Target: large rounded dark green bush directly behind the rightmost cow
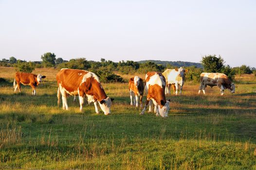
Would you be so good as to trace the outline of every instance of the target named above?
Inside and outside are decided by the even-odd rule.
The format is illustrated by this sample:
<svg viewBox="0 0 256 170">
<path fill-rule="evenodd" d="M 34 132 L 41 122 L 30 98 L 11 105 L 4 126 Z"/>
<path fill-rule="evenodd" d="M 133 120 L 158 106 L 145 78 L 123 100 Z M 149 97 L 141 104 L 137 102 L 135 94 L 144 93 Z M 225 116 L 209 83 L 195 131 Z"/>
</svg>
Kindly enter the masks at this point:
<svg viewBox="0 0 256 170">
<path fill-rule="evenodd" d="M 221 72 L 221 69 L 224 68 L 224 63 L 225 62 L 220 55 L 219 57 L 216 57 L 216 55 L 205 55 L 201 60 L 205 72 Z"/>
</svg>

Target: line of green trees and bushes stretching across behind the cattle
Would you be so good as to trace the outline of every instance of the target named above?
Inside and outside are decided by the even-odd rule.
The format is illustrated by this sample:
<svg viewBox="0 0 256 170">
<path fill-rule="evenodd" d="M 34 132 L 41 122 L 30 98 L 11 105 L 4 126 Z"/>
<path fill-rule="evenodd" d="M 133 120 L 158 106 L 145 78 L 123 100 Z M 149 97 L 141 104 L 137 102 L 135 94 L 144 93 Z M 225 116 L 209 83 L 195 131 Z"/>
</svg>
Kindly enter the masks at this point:
<svg viewBox="0 0 256 170">
<path fill-rule="evenodd" d="M 173 66 L 170 62 L 160 62 L 158 60 L 151 61 L 119 61 L 113 62 L 110 60 L 101 59 L 100 62 L 88 61 L 86 58 L 70 59 L 69 61 L 62 58 L 56 58 L 55 53 L 46 52 L 41 55 L 42 61 L 26 62 L 23 60 L 17 60 L 15 57 L 10 57 L 9 60 L 2 59 L 0 66 L 2 67 L 16 67 L 17 71 L 32 72 L 35 68 L 73 68 L 73 69 L 85 69 L 96 73 L 102 82 L 124 82 L 124 79 L 114 72 L 120 74 L 146 74 L 148 71 L 163 72 L 166 68 L 178 68 Z M 155 62 L 154 62 L 155 61 Z M 190 62 L 178 62 L 184 68 L 188 69 L 186 73 L 186 79 L 188 81 L 199 82 L 201 72 L 220 72 L 226 74 L 230 79 L 234 79 L 236 74 L 256 74 L 256 68 L 250 68 L 249 66 L 242 65 L 241 67 L 231 68 L 229 65 L 225 65 L 225 61 L 221 56 L 205 55 L 202 57 L 201 64 L 191 65 Z M 185 64 L 189 63 L 188 66 Z"/>
</svg>

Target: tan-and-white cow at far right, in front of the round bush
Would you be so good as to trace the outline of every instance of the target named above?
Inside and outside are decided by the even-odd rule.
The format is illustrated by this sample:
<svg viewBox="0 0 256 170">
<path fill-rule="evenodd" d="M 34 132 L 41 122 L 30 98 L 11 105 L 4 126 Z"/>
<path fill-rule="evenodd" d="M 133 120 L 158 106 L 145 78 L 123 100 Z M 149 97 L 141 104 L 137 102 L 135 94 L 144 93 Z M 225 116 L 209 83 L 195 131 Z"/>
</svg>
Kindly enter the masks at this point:
<svg viewBox="0 0 256 170">
<path fill-rule="evenodd" d="M 201 90 L 203 94 L 205 94 L 205 87 L 209 85 L 211 88 L 213 86 L 218 86 L 220 88 L 221 96 L 224 95 L 224 90 L 228 88 L 231 93 L 235 93 L 235 85 L 231 83 L 229 78 L 223 73 L 207 73 L 203 72 L 200 75 L 201 85 L 199 87 L 198 94 L 200 94 Z"/>
</svg>

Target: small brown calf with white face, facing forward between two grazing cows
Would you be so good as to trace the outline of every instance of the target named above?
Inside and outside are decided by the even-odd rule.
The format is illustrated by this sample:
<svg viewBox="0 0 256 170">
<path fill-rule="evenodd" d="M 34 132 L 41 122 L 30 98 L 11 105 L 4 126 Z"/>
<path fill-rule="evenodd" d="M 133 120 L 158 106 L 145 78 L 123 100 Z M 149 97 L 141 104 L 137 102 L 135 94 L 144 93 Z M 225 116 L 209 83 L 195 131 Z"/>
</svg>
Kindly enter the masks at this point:
<svg viewBox="0 0 256 170">
<path fill-rule="evenodd" d="M 130 91 L 130 105 L 133 105 L 132 97 L 136 99 L 136 107 L 138 107 L 139 96 L 140 96 L 140 106 L 142 108 L 142 96 L 144 92 L 144 83 L 143 80 L 139 76 L 134 76 L 129 79 L 129 91 Z"/>
</svg>

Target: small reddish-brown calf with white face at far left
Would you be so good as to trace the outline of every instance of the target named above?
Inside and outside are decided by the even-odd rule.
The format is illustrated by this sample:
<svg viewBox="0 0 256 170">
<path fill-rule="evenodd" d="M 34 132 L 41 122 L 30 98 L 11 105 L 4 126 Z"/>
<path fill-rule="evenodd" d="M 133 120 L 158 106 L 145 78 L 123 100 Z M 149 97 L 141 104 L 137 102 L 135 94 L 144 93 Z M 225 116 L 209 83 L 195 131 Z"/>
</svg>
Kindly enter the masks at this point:
<svg viewBox="0 0 256 170">
<path fill-rule="evenodd" d="M 32 87 L 32 95 L 36 95 L 36 86 L 40 84 L 42 79 L 44 79 L 46 76 L 42 76 L 41 74 L 32 74 L 32 73 L 26 73 L 26 72 L 16 72 L 15 78 L 13 82 L 14 92 L 17 90 L 21 92 L 20 90 L 20 83 L 22 85 L 30 85 Z"/>
</svg>

